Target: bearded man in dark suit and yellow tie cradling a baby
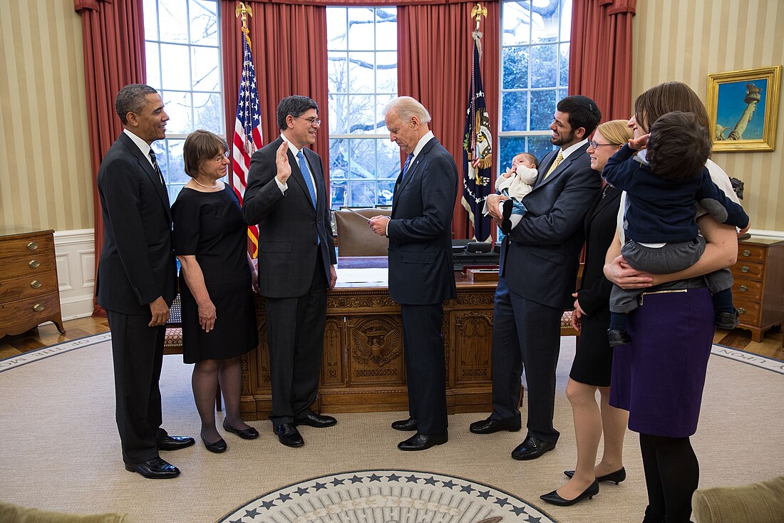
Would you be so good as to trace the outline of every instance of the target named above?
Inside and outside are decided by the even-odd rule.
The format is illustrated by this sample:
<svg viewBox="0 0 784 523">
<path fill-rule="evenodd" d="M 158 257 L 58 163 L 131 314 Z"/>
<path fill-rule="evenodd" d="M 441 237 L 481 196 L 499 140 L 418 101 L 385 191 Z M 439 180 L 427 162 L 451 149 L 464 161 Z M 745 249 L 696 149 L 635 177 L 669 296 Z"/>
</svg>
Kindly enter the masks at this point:
<svg viewBox="0 0 784 523">
<path fill-rule="evenodd" d="M 539 177 L 522 203 L 528 212 L 504 238 L 492 333 L 493 412 L 471 423 L 475 434 L 521 429 L 521 374 L 528 385 L 528 434 L 512 452 L 514 459 L 535 459 L 555 448 L 553 427 L 555 369 L 560 350 L 561 315 L 572 307 L 583 219 L 601 188 L 590 169 L 588 136 L 601 119 L 586 96 L 558 102 L 553 136 L 559 146 L 539 163 Z M 500 220 L 498 202 L 488 196 L 492 216 Z M 500 223 L 500 222 L 499 222 Z"/>
</svg>

